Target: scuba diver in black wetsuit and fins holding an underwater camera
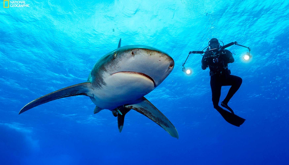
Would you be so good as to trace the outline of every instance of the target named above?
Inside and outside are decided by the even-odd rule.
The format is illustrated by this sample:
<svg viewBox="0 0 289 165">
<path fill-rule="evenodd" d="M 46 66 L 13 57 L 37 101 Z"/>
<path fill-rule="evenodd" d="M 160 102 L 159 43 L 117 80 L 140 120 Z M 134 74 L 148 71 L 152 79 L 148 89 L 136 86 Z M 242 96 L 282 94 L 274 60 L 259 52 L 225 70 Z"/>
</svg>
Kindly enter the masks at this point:
<svg viewBox="0 0 289 165">
<path fill-rule="evenodd" d="M 202 69 L 205 70 L 207 67 L 210 69 L 210 84 L 214 108 L 227 122 L 239 127 L 244 123 L 245 119 L 235 115 L 234 111 L 228 106 L 228 102 L 240 88 L 242 78 L 231 75 L 231 71 L 228 69 L 228 64 L 234 62 L 232 53 L 229 50 L 222 49 L 216 38 L 212 38 L 208 44 L 209 47 L 202 58 Z M 228 109 L 231 113 L 219 106 L 222 86 L 231 86 L 226 98 L 221 102 L 221 106 Z"/>
</svg>

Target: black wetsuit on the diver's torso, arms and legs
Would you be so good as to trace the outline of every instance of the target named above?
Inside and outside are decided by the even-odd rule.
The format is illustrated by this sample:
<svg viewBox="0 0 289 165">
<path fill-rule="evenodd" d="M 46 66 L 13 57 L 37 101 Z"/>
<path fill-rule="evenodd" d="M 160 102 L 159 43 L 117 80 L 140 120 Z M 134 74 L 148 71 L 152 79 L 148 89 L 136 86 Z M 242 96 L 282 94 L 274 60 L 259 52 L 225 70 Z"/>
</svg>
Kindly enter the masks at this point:
<svg viewBox="0 0 289 165">
<path fill-rule="evenodd" d="M 218 52 L 207 52 L 202 59 L 202 69 L 205 70 L 207 67 L 210 69 L 212 101 L 214 108 L 219 112 L 223 110 L 223 108 L 219 106 L 221 87 L 231 86 L 223 101 L 227 104 L 242 84 L 241 77 L 230 75 L 231 72 L 228 70 L 228 63 L 232 62 L 234 62 L 234 57 L 232 53 L 226 49 Z"/>
</svg>

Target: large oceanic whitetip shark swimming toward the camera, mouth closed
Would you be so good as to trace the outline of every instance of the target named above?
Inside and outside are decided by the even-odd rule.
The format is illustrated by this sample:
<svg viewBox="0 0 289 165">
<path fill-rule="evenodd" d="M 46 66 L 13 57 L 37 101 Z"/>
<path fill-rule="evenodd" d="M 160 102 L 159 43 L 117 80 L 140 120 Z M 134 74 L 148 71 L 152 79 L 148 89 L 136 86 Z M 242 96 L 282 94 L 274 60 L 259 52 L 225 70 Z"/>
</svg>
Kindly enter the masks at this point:
<svg viewBox="0 0 289 165">
<path fill-rule="evenodd" d="M 103 109 L 117 116 L 119 132 L 124 116 L 131 109 L 147 116 L 178 138 L 175 126 L 144 95 L 154 90 L 172 72 L 174 60 L 167 53 L 144 45 L 128 45 L 104 55 L 93 66 L 87 82 L 72 85 L 37 98 L 19 114 L 52 100 L 86 95 L 96 105 L 94 114 Z"/>
</svg>

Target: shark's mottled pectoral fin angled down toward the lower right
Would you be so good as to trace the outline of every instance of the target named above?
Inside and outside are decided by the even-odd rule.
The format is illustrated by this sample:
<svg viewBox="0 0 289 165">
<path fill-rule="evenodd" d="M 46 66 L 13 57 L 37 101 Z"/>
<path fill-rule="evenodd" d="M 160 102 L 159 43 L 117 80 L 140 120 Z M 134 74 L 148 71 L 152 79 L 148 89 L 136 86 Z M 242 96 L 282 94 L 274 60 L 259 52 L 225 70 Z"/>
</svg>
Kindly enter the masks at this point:
<svg viewBox="0 0 289 165">
<path fill-rule="evenodd" d="M 179 134 L 175 129 L 175 126 L 146 98 L 142 97 L 141 99 L 137 100 L 136 103 L 132 105 L 125 105 L 124 107 L 136 110 L 144 116 L 147 116 L 159 126 L 164 128 L 171 136 L 177 139 L 179 138 Z"/>
</svg>

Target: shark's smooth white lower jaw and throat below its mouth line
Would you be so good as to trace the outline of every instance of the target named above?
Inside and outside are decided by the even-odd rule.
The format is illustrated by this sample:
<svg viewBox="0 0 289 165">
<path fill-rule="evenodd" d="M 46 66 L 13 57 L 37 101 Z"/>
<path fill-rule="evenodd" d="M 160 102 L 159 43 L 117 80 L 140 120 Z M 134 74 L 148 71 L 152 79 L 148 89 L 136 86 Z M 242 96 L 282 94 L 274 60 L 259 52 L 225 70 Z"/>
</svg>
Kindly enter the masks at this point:
<svg viewBox="0 0 289 165">
<path fill-rule="evenodd" d="M 119 72 L 107 76 L 104 81 L 106 85 L 94 91 L 91 100 L 96 106 L 109 110 L 131 103 L 155 88 L 152 80 L 139 74 Z"/>
</svg>

